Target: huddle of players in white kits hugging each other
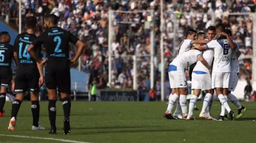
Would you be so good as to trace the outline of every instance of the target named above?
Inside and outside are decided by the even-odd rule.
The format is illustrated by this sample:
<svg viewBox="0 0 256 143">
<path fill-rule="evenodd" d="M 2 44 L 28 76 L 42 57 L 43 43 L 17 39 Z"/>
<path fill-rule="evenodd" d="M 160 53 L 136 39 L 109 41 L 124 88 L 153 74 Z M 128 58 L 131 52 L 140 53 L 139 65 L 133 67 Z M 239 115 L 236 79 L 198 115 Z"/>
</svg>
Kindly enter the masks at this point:
<svg viewBox="0 0 256 143">
<path fill-rule="evenodd" d="M 216 27 L 208 27 L 207 38 L 203 32 L 187 31 L 186 39 L 181 42 L 177 57 L 169 64 L 168 74 L 172 92 L 164 118 L 195 120 L 193 110 L 202 91 L 205 91 L 206 96 L 199 118 L 224 121 L 228 120 L 227 112 L 233 121 L 241 118 L 246 108 L 241 105 L 236 96 L 231 94 L 238 83 L 238 57 L 241 52 L 239 44 L 231 39 L 231 35 L 231 31 L 225 29 L 223 23 L 217 24 Z M 193 90 L 189 112 L 186 76 L 191 77 Z M 210 113 L 214 89 L 222 105 L 222 112 L 217 118 L 213 118 Z M 237 114 L 230 109 L 228 99 L 238 108 Z M 177 108 L 172 113 L 175 103 Z"/>
</svg>

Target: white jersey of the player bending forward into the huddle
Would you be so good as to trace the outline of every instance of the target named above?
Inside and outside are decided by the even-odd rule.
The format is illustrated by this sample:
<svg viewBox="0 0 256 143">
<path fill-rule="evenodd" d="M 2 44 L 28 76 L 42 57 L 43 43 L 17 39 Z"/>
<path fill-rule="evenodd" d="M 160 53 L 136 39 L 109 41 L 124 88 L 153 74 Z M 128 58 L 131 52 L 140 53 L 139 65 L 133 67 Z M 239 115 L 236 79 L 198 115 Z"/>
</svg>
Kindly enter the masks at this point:
<svg viewBox="0 0 256 143">
<path fill-rule="evenodd" d="M 170 64 L 176 67 L 176 70 L 184 70 L 186 67 L 197 61 L 197 56 L 202 55 L 200 50 L 192 49 L 178 55 Z M 169 69 L 170 71 L 170 69 Z M 172 70 L 173 71 L 173 70 Z"/>
</svg>

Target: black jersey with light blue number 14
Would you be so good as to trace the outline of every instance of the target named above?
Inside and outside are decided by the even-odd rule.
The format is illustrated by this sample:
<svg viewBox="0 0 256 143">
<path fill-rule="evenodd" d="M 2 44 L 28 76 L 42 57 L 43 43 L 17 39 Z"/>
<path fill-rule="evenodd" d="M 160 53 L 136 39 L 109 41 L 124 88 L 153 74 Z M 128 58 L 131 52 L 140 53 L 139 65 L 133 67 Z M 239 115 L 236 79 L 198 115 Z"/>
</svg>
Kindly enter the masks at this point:
<svg viewBox="0 0 256 143">
<path fill-rule="evenodd" d="M 27 68 L 37 68 L 37 62 L 27 52 L 28 46 L 36 40 L 35 34 L 29 34 L 27 32 L 20 33 L 17 35 L 14 43 L 14 51 L 18 56 L 18 68 L 26 70 Z M 36 54 L 41 58 L 41 47 L 36 47 Z M 24 68 L 22 68 L 24 67 Z"/>
</svg>

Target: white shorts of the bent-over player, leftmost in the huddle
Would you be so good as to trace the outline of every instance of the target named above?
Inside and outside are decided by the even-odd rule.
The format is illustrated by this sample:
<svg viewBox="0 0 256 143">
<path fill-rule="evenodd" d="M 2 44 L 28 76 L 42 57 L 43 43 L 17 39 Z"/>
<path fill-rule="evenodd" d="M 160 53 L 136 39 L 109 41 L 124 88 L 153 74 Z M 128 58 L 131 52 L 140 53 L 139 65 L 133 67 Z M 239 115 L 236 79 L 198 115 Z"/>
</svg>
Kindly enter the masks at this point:
<svg viewBox="0 0 256 143">
<path fill-rule="evenodd" d="M 187 79 L 184 71 L 170 71 L 168 74 L 171 88 L 187 87 Z"/>
</svg>

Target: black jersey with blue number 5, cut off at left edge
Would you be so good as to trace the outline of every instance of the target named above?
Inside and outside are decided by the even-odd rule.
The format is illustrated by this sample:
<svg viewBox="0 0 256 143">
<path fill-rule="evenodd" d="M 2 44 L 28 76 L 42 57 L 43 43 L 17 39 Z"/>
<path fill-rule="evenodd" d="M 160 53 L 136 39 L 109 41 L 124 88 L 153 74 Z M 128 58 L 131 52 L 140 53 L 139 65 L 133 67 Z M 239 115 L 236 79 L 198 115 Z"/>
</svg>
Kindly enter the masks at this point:
<svg viewBox="0 0 256 143">
<path fill-rule="evenodd" d="M 0 42 L 0 68 L 11 69 L 13 58 L 13 46 L 9 43 Z"/>
</svg>

